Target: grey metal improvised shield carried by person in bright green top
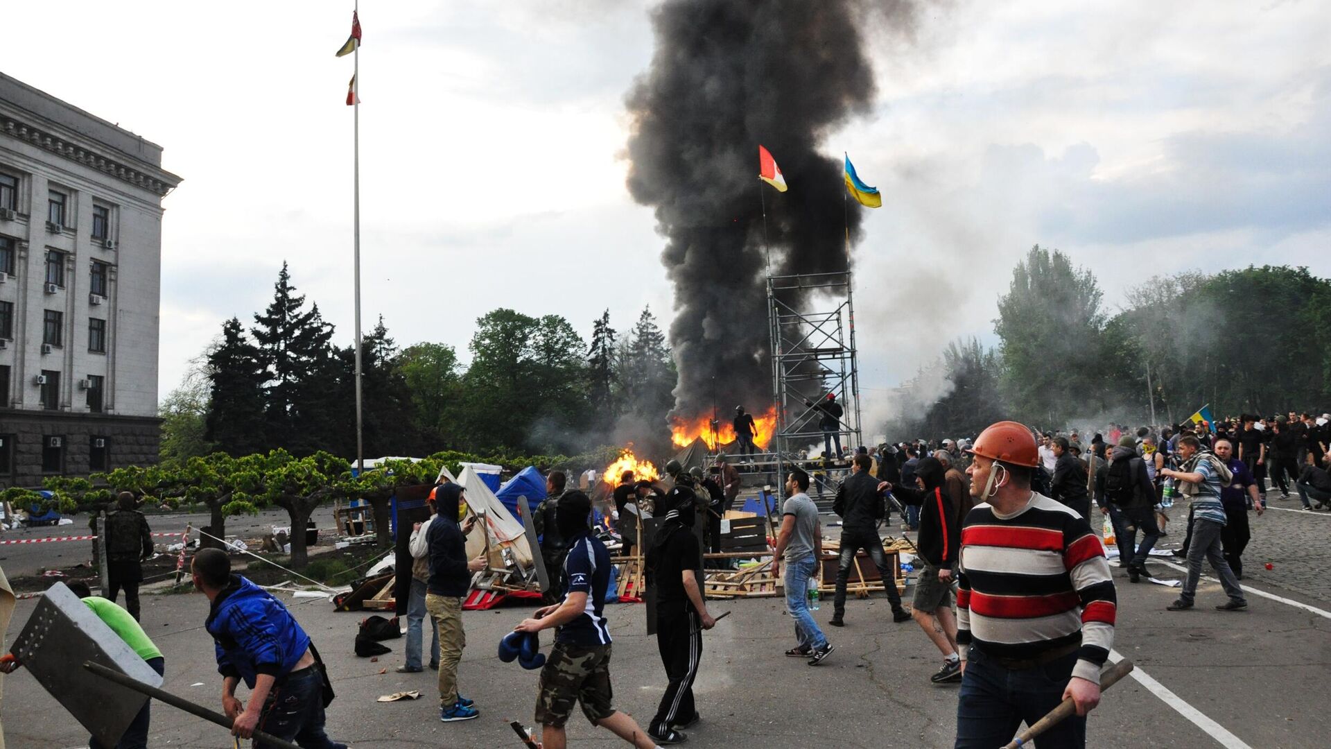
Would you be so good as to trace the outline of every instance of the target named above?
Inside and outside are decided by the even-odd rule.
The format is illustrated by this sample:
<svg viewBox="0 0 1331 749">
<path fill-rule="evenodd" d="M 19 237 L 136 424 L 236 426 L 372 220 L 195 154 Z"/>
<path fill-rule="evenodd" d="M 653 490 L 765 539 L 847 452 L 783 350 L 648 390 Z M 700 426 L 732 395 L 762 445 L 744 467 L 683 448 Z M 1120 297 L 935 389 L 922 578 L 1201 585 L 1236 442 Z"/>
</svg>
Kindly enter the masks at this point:
<svg viewBox="0 0 1331 749">
<path fill-rule="evenodd" d="M 13 641 L 13 654 L 97 741 L 114 746 L 148 697 L 97 678 L 84 661 L 161 686 L 154 672 L 64 582 L 52 585 Z"/>
</svg>

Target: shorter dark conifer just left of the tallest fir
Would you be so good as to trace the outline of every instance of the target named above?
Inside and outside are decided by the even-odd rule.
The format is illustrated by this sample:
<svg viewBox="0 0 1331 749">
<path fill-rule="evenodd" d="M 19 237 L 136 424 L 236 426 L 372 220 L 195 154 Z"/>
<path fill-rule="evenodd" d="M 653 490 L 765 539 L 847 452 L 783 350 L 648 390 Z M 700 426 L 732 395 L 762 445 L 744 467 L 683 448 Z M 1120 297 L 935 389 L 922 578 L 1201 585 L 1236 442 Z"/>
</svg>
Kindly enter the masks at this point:
<svg viewBox="0 0 1331 749">
<path fill-rule="evenodd" d="M 208 381 L 204 438 L 233 456 L 266 452 L 264 367 L 236 317 L 222 324 L 222 341 L 208 355 Z"/>
</svg>

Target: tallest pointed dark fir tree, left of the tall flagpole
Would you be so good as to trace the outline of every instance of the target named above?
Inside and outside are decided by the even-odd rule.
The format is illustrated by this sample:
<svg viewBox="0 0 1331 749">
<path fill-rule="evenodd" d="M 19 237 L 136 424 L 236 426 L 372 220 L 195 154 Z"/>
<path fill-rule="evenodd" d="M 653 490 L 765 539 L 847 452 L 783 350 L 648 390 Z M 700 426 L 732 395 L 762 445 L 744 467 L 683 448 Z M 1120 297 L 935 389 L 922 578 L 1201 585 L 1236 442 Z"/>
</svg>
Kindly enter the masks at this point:
<svg viewBox="0 0 1331 749">
<path fill-rule="evenodd" d="M 270 444 L 305 454 L 325 441 L 325 426 L 334 416 L 319 410 L 337 389 L 338 367 L 329 347 L 333 325 L 323 321 L 317 304 L 305 309 L 305 296 L 295 295 L 285 261 L 273 284 L 273 303 L 264 315 L 254 315 L 254 323 L 250 332 L 266 374 Z"/>
</svg>

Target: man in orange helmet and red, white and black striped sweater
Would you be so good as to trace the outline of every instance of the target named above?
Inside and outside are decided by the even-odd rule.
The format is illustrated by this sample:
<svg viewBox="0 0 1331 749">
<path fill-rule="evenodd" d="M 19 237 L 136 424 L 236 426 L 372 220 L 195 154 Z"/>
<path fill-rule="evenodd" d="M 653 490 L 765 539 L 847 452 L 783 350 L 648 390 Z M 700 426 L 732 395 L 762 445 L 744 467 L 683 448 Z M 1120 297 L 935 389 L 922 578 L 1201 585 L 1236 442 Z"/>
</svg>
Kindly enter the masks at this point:
<svg viewBox="0 0 1331 749">
<path fill-rule="evenodd" d="M 1117 598 L 1099 538 L 1077 510 L 1030 488 L 1030 430 L 1000 421 L 968 450 L 974 509 L 961 526 L 957 646 L 960 748 L 1001 746 L 1065 697 L 1077 714 L 1041 745 L 1085 746 Z"/>
</svg>

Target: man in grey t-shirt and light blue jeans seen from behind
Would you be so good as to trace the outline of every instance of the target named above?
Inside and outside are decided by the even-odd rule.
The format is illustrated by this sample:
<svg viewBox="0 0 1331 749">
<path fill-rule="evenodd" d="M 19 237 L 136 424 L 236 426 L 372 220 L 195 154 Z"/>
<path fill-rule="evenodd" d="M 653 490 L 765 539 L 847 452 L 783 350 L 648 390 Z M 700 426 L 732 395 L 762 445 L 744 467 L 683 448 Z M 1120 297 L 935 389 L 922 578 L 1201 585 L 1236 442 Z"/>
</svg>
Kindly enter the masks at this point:
<svg viewBox="0 0 1331 749">
<path fill-rule="evenodd" d="M 785 610 L 795 620 L 795 636 L 799 645 L 785 652 L 793 658 L 809 658 L 809 665 L 816 666 L 832 653 L 832 644 L 823 636 L 813 614 L 809 613 L 808 586 L 809 578 L 821 580 L 823 570 L 823 529 L 819 524 L 819 509 L 805 493 L 809 490 L 809 474 L 803 470 L 792 470 L 785 481 L 785 493 L 789 496 L 781 505 L 781 532 L 772 548 L 772 574 L 780 574 L 781 564 L 785 560 Z"/>
</svg>

